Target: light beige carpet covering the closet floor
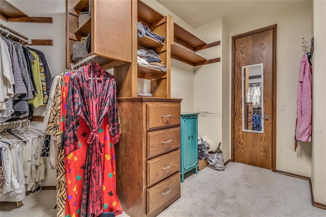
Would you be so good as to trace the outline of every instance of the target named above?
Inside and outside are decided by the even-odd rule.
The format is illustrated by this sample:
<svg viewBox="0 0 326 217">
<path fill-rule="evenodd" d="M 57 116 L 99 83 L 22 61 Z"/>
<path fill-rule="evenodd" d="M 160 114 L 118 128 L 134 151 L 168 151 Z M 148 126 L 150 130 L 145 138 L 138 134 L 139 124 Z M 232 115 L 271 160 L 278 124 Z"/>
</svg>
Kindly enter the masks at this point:
<svg viewBox="0 0 326 217">
<path fill-rule="evenodd" d="M 159 217 L 326 216 L 326 210 L 312 206 L 307 180 L 240 163 L 229 163 L 225 171 L 205 168 L 185 177 L 181 198 Z M 1 202 L 0 216 L 55 217 L 56 191 L 30 194 L 23 204 L 16 208 L 16 203 Z"/>
</svg>

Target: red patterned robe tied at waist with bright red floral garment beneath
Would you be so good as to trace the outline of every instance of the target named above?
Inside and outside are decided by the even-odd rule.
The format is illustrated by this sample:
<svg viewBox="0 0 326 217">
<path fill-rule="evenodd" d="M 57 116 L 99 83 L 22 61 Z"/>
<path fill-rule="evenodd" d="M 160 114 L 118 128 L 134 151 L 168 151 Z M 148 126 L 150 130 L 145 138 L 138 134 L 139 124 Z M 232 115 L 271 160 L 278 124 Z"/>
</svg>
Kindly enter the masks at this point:
<svg viewBox="0 0 326 217">
<path fill-rule="evenodd" d="M 114 144 L 120 139 L 120 125 L 114 76 L 94 62 L 73 73 L 68 86 L 65 121 L 65 166 L 67 183 L 70 182 L 66 214 L 122 213 L 116 194 Z M 80 163 L 79 158 L 85 158 L 83 171 L 74 166 Z"/>
</svg>

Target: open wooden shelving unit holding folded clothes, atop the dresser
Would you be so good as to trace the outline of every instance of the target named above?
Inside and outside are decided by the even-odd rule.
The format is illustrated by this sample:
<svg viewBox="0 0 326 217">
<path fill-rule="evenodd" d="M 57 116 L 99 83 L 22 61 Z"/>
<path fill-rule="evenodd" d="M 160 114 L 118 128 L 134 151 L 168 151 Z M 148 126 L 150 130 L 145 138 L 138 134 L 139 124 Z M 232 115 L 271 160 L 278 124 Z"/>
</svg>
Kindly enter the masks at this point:
<svg viewBox="0 0 326 217">
<path fill-rule="evenodd" d="M 133 1 L 133 28 L 132 28 L 132 63 L 129 66 L 115 68 L 118 97 L 138 97 L 138 78 L 149 80 L 150 93 L 154 97 L 170 98 L 171 79 L 171 50 L 173 42 L 173 17 L 163 16 L 141 1 Z M 138 38 L 137 22 L 148 26 L 152 33 L 165 37 L 160 43 L 148 36 Z M 153 49 L 160 56 L 160 60 L 167 64 L 167 72 L 158 69 L 138 66 L 137 49 Z"/>
</svg>

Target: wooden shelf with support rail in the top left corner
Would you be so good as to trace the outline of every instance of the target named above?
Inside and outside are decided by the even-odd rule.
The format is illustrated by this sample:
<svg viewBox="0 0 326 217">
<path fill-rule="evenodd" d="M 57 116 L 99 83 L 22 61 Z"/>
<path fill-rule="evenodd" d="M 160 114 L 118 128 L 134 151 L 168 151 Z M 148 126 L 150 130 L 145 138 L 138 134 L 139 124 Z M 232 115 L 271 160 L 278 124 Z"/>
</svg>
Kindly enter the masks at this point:
<svg viewBox="0 0 326 217">
<path fill-rule="evenodd" d="M 6 0 L 1 0 L 0 17 L 6 22 L 53 23 L 52 17 L 30 17 Z"/>
</svg>

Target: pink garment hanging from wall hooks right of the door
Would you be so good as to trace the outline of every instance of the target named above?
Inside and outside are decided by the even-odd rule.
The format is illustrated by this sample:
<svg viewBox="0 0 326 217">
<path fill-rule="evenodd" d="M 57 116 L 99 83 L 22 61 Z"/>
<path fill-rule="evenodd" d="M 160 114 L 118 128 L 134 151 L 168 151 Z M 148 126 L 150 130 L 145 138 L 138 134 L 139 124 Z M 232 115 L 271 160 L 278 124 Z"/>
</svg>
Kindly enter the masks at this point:
<svg viewBox="0 0 326 217">
<path fill-rule="evenodd" d="M 296 132 L 298 141 L 311 142 L 312 133 L 312 69 L 307 54 L 301 58 L 296 101 Z"/>
</svg>

